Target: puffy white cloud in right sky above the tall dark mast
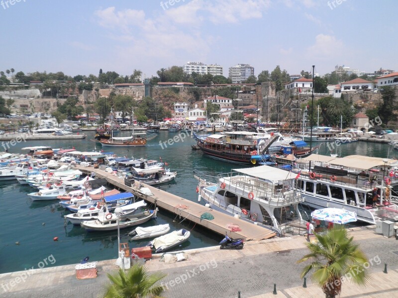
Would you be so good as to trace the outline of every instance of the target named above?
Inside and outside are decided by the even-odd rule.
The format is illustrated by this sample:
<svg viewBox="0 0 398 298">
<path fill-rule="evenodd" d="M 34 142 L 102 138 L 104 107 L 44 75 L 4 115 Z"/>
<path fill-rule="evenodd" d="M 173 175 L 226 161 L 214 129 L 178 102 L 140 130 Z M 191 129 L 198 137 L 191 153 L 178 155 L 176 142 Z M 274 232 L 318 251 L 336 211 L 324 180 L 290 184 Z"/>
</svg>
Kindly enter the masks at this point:
<svg viewBox="0 0 398 298">
<path fill-rule="evenodd" d="M 339 56 L 344 51 L 344 44 L 336 37 L 325 34 L 318 34 L 315 37 L 315 44 L 307 49 L 307 55 L 319 58 L 330 59 Z"/>
</svg>

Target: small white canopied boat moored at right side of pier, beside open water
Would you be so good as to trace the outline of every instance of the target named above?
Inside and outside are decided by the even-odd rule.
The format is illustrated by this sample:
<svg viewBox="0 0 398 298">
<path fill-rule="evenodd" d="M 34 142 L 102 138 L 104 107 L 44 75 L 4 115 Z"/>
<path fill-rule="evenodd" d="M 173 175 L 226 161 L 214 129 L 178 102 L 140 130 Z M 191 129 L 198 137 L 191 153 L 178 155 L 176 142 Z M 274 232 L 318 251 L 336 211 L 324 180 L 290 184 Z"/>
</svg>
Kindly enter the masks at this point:
<svg viewBox="0 0 398 298">
<path fill-rule="evenodd" d="M 171 172 L 163 167 L 152 167 L 147 169 L 133 168 L 133 176 L 135 181 L 142 182 L 148 185 L 158 185 L 174 180 L 177 172 Z"/>
</svg>

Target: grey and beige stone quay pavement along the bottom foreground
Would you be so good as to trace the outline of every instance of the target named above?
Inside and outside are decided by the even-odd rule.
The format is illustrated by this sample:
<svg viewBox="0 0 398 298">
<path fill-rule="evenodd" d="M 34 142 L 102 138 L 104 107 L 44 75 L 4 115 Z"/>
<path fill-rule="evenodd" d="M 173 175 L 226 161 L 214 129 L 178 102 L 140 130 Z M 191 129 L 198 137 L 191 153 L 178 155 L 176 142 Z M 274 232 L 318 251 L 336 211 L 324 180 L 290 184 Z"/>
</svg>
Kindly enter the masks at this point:
<svg viewBox="0 0 398 298">
<path fill-rule="evenodd" d="M 398 241 L 377 235 L 369 227 L 355 228 L 350 233 L 373 260 L 373 279 L 365 289 L 343 284 L 341 297 L 398 296 Z M 295 236 L 247 242 L 242 250 L 208 247 L 185 251 L 189 259 L 173 264 L 160 262 L 159 256 L 154 256 L 146 266 L 149 271 L 162 270 L 168 274 L 163 280 L 168 298 L 234 298 L 238 291 L 241 298 L 324 297 L 310 280 L 307 288 L 302 288 L 303 264 L 296 262 L 307 253 L 305 242 L 305 237 Z M 388 264 L 387 274 L 383 273 L 384 263 Z M 76 279 L 75 265 L 37 269 L 24 283 L 17 284 L 21 272 L 6 273 L 0 275 L 0 297 L 98 297 L 107 281 L 106 273 L 115 269 L 114 260 L 101 261 L 98 277 L 88 280 Z M 274 283 L 277 295 L 272 294 Z"/>
</svg>

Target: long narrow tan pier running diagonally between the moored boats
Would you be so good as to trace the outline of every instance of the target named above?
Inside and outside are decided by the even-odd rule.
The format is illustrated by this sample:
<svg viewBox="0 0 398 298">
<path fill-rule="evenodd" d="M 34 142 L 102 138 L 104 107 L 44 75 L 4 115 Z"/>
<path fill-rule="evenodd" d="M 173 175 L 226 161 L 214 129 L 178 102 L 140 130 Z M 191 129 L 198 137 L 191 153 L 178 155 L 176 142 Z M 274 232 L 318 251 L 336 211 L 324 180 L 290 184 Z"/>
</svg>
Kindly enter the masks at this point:
<svg viewBox="0 0 398 298">
<path fill-rule="evenodd" d="M 141 198 L 145 201 L 156 204 L 156 206 L 161 209 L 165 209 L 180 216 L 181 218 L 204 226 L 221 235 L 228 233 L 231 238 L 244 238 L 245 240 L 263 240 L 276 236 L 276 233 L 270 229 L 234 218 L 227 214 L 223 214 L 196 202 L 181 198 L 150 185 L 146 185 L 141 182 L 135 182 L 134 186 L 132 185 L 132 187 L 129 187 L 124 184 L 124 179 L 120 179 L 117 176 L 113 176 L 111 173 L 105 172 L 103 170 L 95 169 L 91 166 L 84 167 L 80 165 L 76 165 L 76 169 L 79 169 L 89 175 L 94 172 L 96 177 L 105 178 L 109 184 L 112 184 L 116 188 L 131 192 L 137 198 Z M 139 185 L 143 185 L 144 187 L 148 188 L 152 195 L 142 193 L 138 188 Z M 193 187 L 195 187 L 195 185 L 193 185 Z M 184 209 L 181 207 L 184 207 Z M 212 214 L 214 219 L 211 221 L 201 219 L 200 216 L 205 212 Z M 226 227 L 227 224 L 237 224 L 241 230 L 232 232 Z"/>
</svg>

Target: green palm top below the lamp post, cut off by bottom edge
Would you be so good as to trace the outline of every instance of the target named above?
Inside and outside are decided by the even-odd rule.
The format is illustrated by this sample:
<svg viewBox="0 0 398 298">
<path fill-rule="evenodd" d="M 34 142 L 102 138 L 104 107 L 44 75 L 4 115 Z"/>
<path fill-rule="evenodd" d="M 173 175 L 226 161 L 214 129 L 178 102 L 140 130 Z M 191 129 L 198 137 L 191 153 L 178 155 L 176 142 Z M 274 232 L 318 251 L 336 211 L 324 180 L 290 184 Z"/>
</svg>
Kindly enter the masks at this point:
<svg viewBox="0 0 398 298">
<path fill-rule="evenodd" d="M 166 277 L 163 272 L 149 275 L 144 265 L 134 264 L 127 272 L 122 269 L 107 274 L 110 283 L 104 286 L 104 298 L 162 298 L 165 288 L 155 286 Z"/>
</svg>

